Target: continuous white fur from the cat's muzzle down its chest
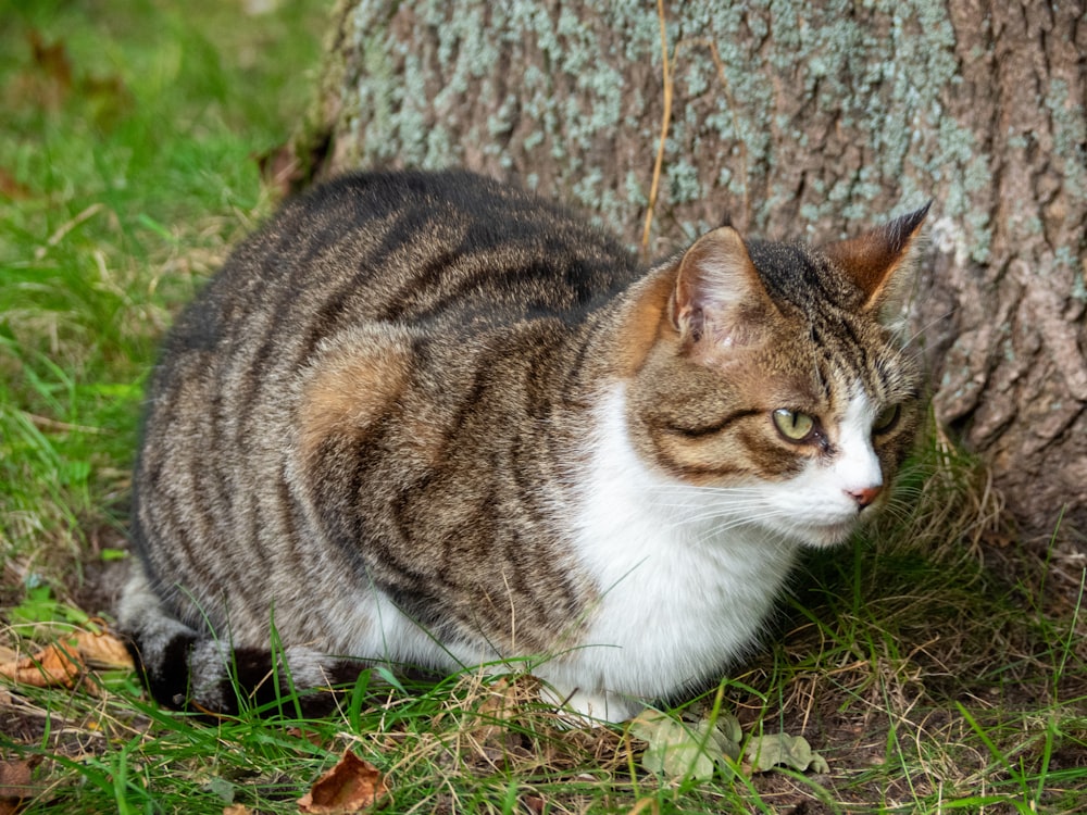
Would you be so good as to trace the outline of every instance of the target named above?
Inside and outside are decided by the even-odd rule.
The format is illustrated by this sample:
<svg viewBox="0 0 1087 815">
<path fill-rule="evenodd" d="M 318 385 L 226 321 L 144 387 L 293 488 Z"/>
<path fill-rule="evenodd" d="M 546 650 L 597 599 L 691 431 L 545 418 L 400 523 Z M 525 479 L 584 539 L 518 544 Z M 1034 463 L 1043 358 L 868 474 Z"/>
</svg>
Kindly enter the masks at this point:
<svg viewBox="0 0 1087 815">
<path fill-rule="evenodd" d="M 637 454 L 616 386 L 597 413 L 574 541 L 602 597 L 585 635 L 535 673 L 617 720 L 724 669 L 758 638 L 799 548 L 845 539 L 860 514 L 849 491 L 882 484 L 874 417 L 859 392 L 829 463 L 785 482 L 696 487 Z"/>
</svg>

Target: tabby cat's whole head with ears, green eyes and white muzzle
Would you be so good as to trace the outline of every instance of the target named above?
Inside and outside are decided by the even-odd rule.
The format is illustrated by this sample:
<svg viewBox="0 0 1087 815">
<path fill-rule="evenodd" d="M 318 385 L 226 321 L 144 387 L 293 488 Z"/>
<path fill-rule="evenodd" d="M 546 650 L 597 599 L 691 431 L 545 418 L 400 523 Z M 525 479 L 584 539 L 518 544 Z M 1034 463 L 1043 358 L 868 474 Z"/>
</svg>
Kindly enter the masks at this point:
<svg viewBox="0 0 1087 815">
<path fill-rule="evenodd" d="M 821 249 L 728 226 L 699 239 L 662 273 L 667 304 L 627 390 L 642 457 L 783 537 L 847 538 L 920 424 L 921 373 L 892 323 L 927 209 Z"/>
</svg>

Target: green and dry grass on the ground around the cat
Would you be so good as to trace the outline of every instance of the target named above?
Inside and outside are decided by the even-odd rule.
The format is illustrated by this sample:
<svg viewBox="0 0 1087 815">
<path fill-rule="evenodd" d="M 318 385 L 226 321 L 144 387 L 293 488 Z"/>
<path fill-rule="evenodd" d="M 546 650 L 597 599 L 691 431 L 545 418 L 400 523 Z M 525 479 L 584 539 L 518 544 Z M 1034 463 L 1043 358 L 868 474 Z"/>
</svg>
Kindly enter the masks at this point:
<svg viewBox="0 0 1087 815">
<path fill-rule="evenodd" d="M 304 109 L 324 13 L 0 3 L 0 648 L 109 612 L 155 346 L 270 211 L 253 156 Z M 29 772 L 27 812 L 297 812 L 348 748 L 395 812 L 1083 811 L 1078 598 L 1053 602 L 984 471 L 935 432 L 903 481 L 870 540 L 810 560 L 765 650 L 676 712 L 802 734 L 827 774 L 658 778 L 624 728 L 563 729 L 525 678 L 371 677 L 324 719 L 287 704 L 209 724 L 148 703 L 125 670 L 0 684 L 0 772 Z"/>
</svg>

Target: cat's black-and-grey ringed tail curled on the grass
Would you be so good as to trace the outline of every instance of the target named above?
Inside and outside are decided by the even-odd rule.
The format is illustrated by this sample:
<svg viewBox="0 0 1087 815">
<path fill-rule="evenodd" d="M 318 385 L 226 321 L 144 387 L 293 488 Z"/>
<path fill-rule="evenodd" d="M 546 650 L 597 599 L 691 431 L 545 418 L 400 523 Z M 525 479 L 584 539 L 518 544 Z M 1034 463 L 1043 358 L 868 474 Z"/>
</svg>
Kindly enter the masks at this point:
<svg viewBox="0 0 1087 815">
<path fill-rule="evenodd" d="M 236 715 L 246 707 L 275 710 L 280 701 L 285 713 L 322 716 L 335 709 L 332 687 L 355 681 L 370 667 L 304 647 L 233 648 L 200 634 L 171 616 L 138 564 L 117 622 L 150 694 L 180 711 Z"/>
</svg>

